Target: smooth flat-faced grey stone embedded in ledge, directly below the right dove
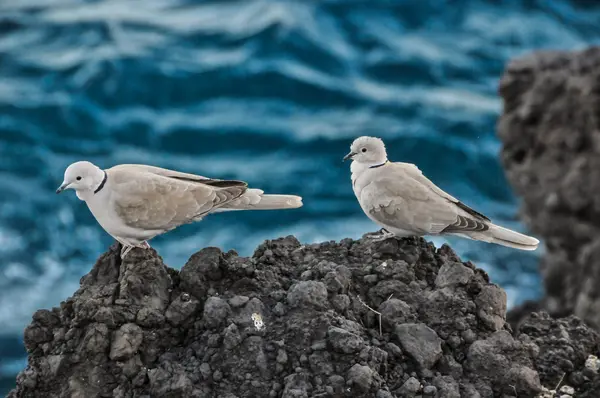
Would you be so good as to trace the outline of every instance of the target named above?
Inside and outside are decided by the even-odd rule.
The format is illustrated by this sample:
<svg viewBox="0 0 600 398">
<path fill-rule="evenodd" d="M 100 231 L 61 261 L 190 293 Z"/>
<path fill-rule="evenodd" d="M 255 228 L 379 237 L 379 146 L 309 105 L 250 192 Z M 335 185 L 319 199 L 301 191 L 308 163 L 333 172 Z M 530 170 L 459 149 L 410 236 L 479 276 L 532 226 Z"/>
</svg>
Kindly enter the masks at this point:
<svg viewBox="0 0 600 398">
<path fill-rule="evenodd" d="M 430 369 L 442 357 L 442 340 L 427 325 L 396 325 L 395 335 L 402 350 L 410 355 L 421 369 Z"/>
</svg>

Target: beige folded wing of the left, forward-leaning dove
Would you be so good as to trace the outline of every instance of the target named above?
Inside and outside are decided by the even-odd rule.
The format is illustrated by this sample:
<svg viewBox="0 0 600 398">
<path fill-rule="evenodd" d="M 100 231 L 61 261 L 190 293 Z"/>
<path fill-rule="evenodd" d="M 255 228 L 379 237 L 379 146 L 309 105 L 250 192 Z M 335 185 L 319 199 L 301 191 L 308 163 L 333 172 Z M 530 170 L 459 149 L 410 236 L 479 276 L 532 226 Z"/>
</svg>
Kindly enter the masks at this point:
<svg viewBox="0 0 600 398">
<path fill-rule="evenodd" d="M 128 226 L 168 231 L 196 221 L 243 195 L 246 186 L 217 188 L 140 169 L 111 169 L 111 202 Z"/>
</svg>

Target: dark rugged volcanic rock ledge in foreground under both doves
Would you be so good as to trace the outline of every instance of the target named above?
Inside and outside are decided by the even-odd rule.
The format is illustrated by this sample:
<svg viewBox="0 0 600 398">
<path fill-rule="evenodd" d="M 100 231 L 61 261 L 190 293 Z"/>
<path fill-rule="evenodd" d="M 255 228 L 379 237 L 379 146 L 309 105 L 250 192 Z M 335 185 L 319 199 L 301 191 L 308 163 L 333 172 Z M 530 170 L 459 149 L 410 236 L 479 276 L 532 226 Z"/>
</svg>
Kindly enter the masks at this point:
<svg viewBox="0 0 600 398">
<path fill-rule="evenodd" d="M 423 239 L 287 237 L 181 271 L 115 245 L 35 313 L 9 397 L 600 396 L 596 332 L 505 315 L 485 272 Z"/>
</svg>

